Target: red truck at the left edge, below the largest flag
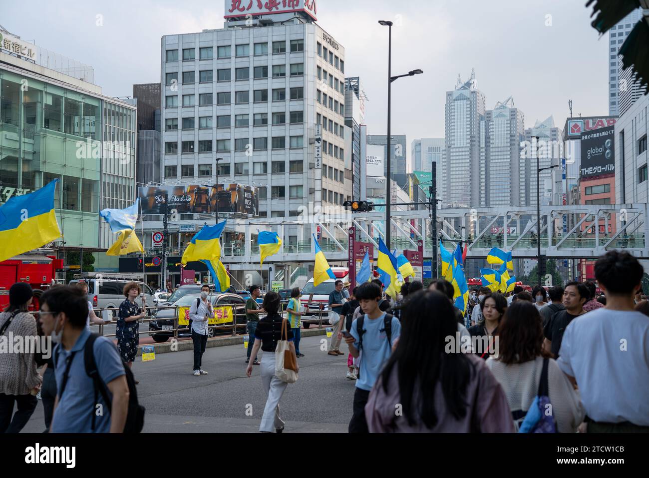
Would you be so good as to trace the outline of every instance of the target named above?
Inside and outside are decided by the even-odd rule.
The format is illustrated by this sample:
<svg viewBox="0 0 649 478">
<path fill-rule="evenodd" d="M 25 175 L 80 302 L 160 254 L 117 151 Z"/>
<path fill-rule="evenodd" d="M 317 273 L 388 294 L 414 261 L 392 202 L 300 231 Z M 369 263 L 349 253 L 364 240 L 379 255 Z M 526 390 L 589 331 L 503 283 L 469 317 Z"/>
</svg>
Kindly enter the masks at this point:
<svg viewBox="0 0 649 478">
<path fill-rule="evenodd" d="M 39 254 L 21 254 L 0 262 L 0 310 L 9 305 L 9 288 L 14 283 L 26 282 L 32 289 L 45 290 L 61 268 L 63 259 Z"/>
</svg>

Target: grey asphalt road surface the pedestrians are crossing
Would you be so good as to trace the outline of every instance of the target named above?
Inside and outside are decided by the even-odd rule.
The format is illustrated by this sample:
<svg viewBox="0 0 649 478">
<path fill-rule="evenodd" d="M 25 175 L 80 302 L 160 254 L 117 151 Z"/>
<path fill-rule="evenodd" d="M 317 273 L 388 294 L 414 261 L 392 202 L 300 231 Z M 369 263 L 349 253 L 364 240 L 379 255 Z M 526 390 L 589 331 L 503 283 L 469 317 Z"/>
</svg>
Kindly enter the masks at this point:
<svg viewBox="0 0 649 478">
<path fill-rule="evenodd" d="M 345 378 L 347 355 L 334 357 L 321 351 L 323 338 L 306 337 L 300 342 L 306 357 L 299 359 L 299 379 L 288 385 L 280 402 L 285 433 L 347 432 L 354 381 Z M 192 374 L 191 350 L 159 354 L 151 362 L 136 360 L 138 399 L 147 409 L 144 432 L 258 432 L 266 394 L 258 366 L 252 377 L 245 375 L 243 346 L 206 349 L 202 368 L 208 375 L 201 377 Z M 39 403 L 23 432 L 38 433 L 44 427 Z"/>
</svg>

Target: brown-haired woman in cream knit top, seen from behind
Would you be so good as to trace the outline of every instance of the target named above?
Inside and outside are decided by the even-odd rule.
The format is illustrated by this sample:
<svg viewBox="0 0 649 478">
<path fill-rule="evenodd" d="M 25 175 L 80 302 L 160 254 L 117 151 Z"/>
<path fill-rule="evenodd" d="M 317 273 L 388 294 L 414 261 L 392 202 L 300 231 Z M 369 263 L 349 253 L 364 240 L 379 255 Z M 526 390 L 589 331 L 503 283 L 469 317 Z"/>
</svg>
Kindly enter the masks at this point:
<svg viewBox="0 0 649 478">
<path fill-rule="evenodd" d="M 575 433 L 584 412 L 578 392 L 554 359 L 542 351 L 543 329 L 539 312 L 526 301 L 507 308 L 498 334 L 498 357 L 487 367 L 500 383 L 517 426 L 522 423 L 539 392 L 546 369 L 548 412 L 559 433 Z"/>
</svg>

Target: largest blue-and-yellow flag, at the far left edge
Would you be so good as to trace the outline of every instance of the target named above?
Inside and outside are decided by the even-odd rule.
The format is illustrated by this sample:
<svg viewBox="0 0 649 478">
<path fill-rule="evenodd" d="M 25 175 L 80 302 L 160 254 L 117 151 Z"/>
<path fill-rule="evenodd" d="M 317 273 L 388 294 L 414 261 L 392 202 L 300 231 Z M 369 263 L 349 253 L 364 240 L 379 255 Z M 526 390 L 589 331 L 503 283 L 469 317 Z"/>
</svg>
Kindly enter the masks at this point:
<svg viewBox="0 0 649 478">
<path fill-rule="evenodd" d="M 56 181 L 38 191 L 11 197 L 0 207 L 0 262 L 61 236 L 54 210 Z"/>
</svg>

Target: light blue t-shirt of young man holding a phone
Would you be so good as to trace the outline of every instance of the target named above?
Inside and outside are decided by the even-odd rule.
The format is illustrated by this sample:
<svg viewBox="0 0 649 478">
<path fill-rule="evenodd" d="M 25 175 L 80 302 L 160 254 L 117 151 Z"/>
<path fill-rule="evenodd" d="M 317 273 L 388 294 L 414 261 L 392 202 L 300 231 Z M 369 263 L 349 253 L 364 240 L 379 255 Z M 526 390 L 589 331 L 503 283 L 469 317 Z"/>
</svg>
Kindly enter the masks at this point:
<svg viewBox="0 0 649 478">
<path fill-rule="evenodd" d="M 377 319 L 371 319 L 365 314 L 363 321 L 365 333 L 363 334 L 363 348 L 361 349 L 361 376 L 356 381 L 356 386 L 361 390 L 372 390 L 378 374 L 392 353 L 392 347 L 387 342 L 386 332 L 381 332 L 385 316 L 386 314 L 384 313 Z M 356 348 L 358 348 L 357 325 L 358 319 L 352 322 L 352 329 L 350 330 L 350 334 L 356 339 L 356 342 L 354 342 L 354 347 Z M 393 344 L 400 333 L 401 324 L 396 317 L 393 317 L 391 337 Z"/>
</svg>

